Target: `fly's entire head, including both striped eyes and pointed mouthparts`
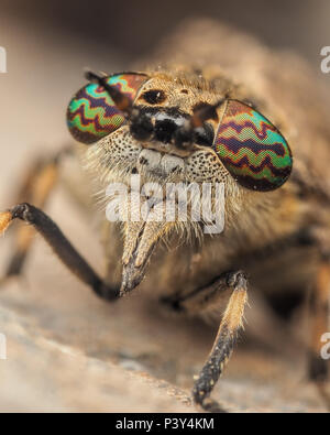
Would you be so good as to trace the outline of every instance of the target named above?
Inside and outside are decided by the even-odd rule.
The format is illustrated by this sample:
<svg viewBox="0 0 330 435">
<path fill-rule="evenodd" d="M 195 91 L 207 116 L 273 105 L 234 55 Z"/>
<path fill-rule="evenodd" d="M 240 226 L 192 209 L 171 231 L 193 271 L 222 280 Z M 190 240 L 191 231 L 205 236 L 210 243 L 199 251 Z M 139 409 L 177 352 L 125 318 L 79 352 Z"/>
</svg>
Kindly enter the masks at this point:
<svg viewBox="0 0 330 435">
<path fill-rule="evenodd" d="M 178 214 L 172 220 L 164 215 L 148 219 L 158 199 L 164 199 L 168 184 L 194 183 L 201 186 L 200 192 L 205 184 L 221 184 L 226 228 L 249 235 L 276 208 L 280 195 L 270 191 L 280 187 L 292 168 L 290 150 L 283 135 L 243 102 L 244 96 L 228 79 L 208 81 L 195 73 L 136 73 L 138 78 L 134 74 L 98 77 L 98 85 L 78 91 L 68 110 L 73 134 L 90 144 L 86 166 L 102 188 L 122 183 L 132 192 L 132 175 L 139 175 L 142 184 L 156 183 L 163 189 L 152 205 L 148 194 L 139 191 L 139 207 L 147 206 L 147 219 L 132 218 L 130 202 L 120 208 L 123 292 L 141 282 L 161 240 L 173 233 L 185 235 L 185 242 L 191 236 L 204 239 L 205 221 L 196 220 L 194 214 L 188 214 L 186 221 Z M 88 122 L 84 124 L 88 118 L 91 129 Z M 106 200 L 116 207 L 112 197 Z M 175 200 L 178 205 L 179 199 Z M 195 213 L 194 200 L 190 195 L 188 207 Z M 211 194 L 210 203 L 211 215 L 217 217 L 218 197 Z M 204 207 L 204 198 L 199 204 Z M 263 216 L 255 215 L 256 209 L 263 210 Z"/>
</svg>

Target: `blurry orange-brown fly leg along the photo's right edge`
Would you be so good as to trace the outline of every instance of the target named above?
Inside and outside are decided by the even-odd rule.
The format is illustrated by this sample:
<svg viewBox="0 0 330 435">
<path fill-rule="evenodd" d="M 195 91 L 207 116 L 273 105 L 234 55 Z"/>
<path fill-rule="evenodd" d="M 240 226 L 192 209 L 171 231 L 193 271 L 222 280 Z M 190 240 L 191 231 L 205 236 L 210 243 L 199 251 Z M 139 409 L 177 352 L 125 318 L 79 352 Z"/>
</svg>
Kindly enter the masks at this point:
<svg viewBox="0 0 330 435">
<path fill-rule="evenodd" d="M 308 355 L 308 376 L 314 381 L 330 409 L 330 393 L 326 385 L 329 374 L 329 361 L 322 358 L 321 348 L 324 345 L 321 340 L 323 334 L 329 329 L 330 317 L 330 264 L 322 261 L 319 265 L 316 285 L 310 301 L 311 336 Z"/>
</svg>

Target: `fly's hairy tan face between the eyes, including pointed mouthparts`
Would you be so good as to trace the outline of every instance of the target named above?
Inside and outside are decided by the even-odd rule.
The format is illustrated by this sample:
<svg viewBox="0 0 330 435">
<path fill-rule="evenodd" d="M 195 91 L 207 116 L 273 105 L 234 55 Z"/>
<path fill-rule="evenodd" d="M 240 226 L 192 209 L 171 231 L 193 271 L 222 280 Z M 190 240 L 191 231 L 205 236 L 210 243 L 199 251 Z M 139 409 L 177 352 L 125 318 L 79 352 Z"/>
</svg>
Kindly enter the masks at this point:
<svg viewBox="0 0 330 435">
<path fill-rule="evenodd" d="M 215 105 L 223 95 L 215 93 L 195 77 L 173 77 L 157 74 L 139 90 L 133 102 L 138 119 L 125 122 L 111 134 L 87 149 L 87 166 L 101 181 L 128 186 L 131 176 L 139 174 L 142 183 L 227 183 L 230 175 L 212 144 L 221 116 L 221 107 L 199 129 L 188 144 L 176 140 L 176 132 L 189 124 L 194 111 Z M 146 126 L 140 122 L 141 116 Z M 139 123 L 140 122 L 140 123 Z M 148 134 L 150 123 L 152 134 Z M 142 124 L 142 128 L 141 128 Z M 231 182 L 232 183 L 232 182 Z M 141 204 L 146 202 L 141 198 Z M 109 198 L 107 198 L 109 203 Z M 200 233 L 200 222 L 139 221 L 123 222 L 122 292 L 132 290 L 142 280 L 154 248 L 168 235 Z"/>
</svg>

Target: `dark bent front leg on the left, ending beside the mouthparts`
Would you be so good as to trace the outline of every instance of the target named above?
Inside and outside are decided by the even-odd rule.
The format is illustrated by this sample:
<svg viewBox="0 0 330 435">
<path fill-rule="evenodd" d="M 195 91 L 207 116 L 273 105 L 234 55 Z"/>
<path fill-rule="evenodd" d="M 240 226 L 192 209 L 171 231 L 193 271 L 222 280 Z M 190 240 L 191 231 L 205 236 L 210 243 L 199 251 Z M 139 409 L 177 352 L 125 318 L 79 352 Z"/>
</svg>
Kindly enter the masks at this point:
<svg viewBox="0 0 330 435">
<path fill-rule="evenodd" d="M 112 301 L 119 296 L 119 289 L 105 283 L 91 267 L 76 251 L 57 225 L 40 208 L 22 203 L 0 214 L 0 233 L 14 220 L 21 219 L 32 225 L 45 239 L 59 260 L 85 284 L 89 285 L 98 296 Z"/>
</svg>

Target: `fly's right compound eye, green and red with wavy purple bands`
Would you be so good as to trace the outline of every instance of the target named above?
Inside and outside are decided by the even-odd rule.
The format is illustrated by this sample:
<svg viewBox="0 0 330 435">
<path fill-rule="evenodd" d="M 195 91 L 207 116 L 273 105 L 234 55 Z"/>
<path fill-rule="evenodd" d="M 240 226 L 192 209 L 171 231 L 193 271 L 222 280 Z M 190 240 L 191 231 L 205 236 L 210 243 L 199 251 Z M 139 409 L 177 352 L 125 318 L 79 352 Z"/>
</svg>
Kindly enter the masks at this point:
<svg viewBox="0 0 330 435">
<path fill-rule="evenodd" d="M 263 115 L 237 100 L 227 100 L 215 140 L 216 152 L 242 186 L 274 191 L 289 177 L 293 156 L 284 137 Z"/>
</svg>

